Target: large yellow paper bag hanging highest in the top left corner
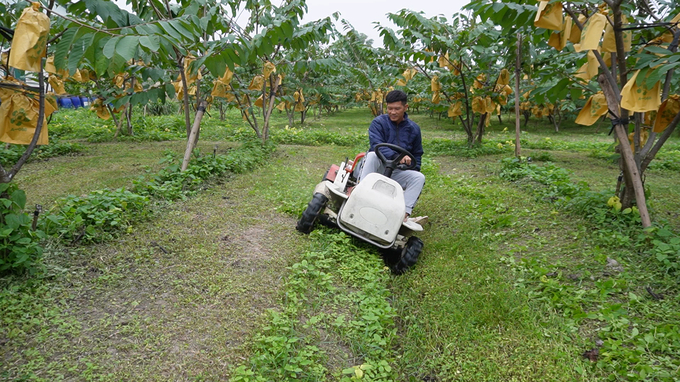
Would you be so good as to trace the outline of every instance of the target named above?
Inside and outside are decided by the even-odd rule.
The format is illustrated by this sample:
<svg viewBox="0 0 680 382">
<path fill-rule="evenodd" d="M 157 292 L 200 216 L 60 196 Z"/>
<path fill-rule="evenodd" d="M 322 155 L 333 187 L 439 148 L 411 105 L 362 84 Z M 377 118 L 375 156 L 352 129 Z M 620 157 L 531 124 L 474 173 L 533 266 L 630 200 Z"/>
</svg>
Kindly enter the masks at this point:
<svg viewBox="0 0 680 382">
<path fill-rule="evenodd" d="M 31 72 L 40 71 L 40 60 L 45 57 L 50 18 L 40 12 L 40 3 L 24 9 L 17 21 L 9 55 L 9 66 Z"/>
</svg>

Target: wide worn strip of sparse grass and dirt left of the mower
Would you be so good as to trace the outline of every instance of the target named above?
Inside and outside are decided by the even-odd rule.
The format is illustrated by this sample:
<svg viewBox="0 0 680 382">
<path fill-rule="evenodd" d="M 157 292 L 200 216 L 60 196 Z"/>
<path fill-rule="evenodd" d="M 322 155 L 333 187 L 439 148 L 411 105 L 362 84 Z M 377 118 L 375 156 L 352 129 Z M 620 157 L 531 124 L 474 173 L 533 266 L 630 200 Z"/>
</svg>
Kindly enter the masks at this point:
<svg viewBox="0 0 680 382">
<path fill-rule="evenodd" d="M 37 325 L 0 331 L 0 378 L 225 380 L 298 252 L 294 219 L 251 195 L 267 171 L 171 205 L 116 243 L 49 254 L 54 277 L 26 293 Z"/>
</svg>

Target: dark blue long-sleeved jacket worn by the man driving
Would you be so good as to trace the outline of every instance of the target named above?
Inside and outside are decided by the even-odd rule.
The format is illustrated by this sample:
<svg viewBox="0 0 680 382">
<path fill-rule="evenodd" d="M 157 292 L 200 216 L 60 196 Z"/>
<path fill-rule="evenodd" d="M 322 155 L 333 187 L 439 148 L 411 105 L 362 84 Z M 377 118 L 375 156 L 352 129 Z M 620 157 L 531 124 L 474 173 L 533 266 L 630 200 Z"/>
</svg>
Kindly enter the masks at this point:
<svg viewBox="0 0 680 382">
<path fill-rule="evenodd" d="M 378 143 L 391 143 L 405 148 L 416 157 L 416 170 L 420 171 L 423 158 L 423 143 L 420 135 L 420 126 L 408 118 L 404 113 L 404 120 L 397 126 L 390 120 L 387 114 L 375 117 L 368 128 L 368 141 L 371 147 L 368 151 L 374 151 Z M 381 147 L 380 152 L 387 159 L 397 157 L 397 152 L 387 147 Z"/>
</svg>

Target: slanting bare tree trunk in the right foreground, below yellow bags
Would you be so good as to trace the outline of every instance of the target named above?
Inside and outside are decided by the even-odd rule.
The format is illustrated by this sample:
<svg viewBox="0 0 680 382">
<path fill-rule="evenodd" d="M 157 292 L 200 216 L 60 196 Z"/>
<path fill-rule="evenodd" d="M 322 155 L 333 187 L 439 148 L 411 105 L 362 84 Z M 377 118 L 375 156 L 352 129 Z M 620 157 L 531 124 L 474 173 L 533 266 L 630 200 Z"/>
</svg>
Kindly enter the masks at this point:
<svg viewBox="0 0 680 382">
<path fill-rule="evenodd" d="M 607 105 L 609 105 L 609 110 L 619 110 L 619 113 L 621 114 L 621 101 L 619 94 L 614 92 L 611 84 L 603 74 L 600 74 L 600 76 L 597 78 L 597 81 L 600 83 L 602 92 L 604 93 L 605 99 L 607 100 Z M 614 127 L 614 131 L 616 132 L 616 138 L 619 140 L 619 150 L 621 151 L 621 156 L 623 157 L 623 163 L 626 172 L 630 176 L 630 179 L 633 183 L 635 201 L 637 202 L 638 211 L 640 211 L 642 227 L 651 227 L 652 221 L 649 217 L 649 211 L 647 211 L 645 189 L 642 185 L 640 170 L 635 164 L 633 151 L 630 149 L 630 145 L 628 144 L 628 126 L 618 124 Z"/>
</svg>

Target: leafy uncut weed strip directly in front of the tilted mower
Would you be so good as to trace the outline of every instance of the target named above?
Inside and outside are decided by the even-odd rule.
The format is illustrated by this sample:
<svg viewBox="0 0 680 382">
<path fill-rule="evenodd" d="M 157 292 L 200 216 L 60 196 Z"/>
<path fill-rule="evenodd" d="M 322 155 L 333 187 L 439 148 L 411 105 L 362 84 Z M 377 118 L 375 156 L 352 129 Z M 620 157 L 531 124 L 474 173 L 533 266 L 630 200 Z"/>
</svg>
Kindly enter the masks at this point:
<svg viewBox="0 0 680 382">
<path fill-rule="evenodd" d="M 391 380 L 396 329 L 390 278 L 374 251 L 314 231 L 289 267 L 281 311 L 270 311 L 248 363 L 231 381 Z"/>
</svg>

